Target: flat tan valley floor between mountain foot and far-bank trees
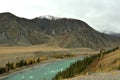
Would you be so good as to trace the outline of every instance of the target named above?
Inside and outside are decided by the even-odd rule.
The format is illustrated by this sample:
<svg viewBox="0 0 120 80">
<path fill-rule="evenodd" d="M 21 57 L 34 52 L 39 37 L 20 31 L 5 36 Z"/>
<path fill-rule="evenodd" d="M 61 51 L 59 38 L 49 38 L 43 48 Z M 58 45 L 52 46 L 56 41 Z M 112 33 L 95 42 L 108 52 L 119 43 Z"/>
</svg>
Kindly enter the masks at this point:
<svg viewBox="0 0 120 80">
<path fill-rule="evenodd" d="M 89 48 L 60 48 L 56 46 L 33 45 L 33 46 L 0 46 L 0 65 L 9 62 L 16 62 L 18 59 L 26 59 L 30 57 L 51 56 L 57 54 L 75 54 L 90 55 L 96 54 L 95 50 Z"/>
</svg>

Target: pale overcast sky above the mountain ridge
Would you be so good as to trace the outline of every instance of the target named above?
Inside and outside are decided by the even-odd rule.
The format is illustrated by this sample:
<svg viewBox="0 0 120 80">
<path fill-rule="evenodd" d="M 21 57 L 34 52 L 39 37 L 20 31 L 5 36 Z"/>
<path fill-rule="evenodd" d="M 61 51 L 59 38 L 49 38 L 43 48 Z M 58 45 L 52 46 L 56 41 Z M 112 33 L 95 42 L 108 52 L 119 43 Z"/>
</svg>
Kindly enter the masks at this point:
<svg viewBox="0 0 120 80">
<path fill-rule="evenodd" d="M 0 13 L 76 18 L 99 31 L 120 32 L 120 0 L 0 0 Z"/>
</svg>

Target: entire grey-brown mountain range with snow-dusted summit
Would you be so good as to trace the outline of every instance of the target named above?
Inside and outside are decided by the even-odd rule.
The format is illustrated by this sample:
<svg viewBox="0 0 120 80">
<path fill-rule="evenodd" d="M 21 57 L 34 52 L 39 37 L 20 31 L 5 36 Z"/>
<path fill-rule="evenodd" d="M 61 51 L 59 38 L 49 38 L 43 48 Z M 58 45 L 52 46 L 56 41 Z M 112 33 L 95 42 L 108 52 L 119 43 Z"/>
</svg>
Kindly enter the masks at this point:
<svg viewBox="0 0 120 80">
<path fill-rule="evenodd" d="M 25 19 L 0 13 L 0 44 L 104 48 L 119 46 L 120 39 L 100 33 L 77 19 L 53 16 Z"/>
</svg>

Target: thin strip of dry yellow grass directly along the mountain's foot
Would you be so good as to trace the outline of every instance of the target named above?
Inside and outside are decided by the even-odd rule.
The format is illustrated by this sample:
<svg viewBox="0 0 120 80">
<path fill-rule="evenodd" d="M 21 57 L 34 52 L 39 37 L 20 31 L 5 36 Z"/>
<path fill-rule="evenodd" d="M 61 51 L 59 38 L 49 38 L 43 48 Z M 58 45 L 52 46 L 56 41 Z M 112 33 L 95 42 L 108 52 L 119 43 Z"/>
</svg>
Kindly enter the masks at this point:
<svg viewBox="0 0 120 80">
<path fill-rule="evenodd" d="M 75 48 L 76 50 L 87 50 L 89 48 Z M 34 45 L 34 46 L 8 46 L 2 47 L 0 46 L 0 54 L 5 53 L 20 53 L 20 52 L 48 52 L 48 51 L 65 51 L 65 50 L 75 50 L 75 49 L 67 49 L 67 48 L 60 48 L 57 46 L 46 46 L 46 45 Z"/>
</svg>

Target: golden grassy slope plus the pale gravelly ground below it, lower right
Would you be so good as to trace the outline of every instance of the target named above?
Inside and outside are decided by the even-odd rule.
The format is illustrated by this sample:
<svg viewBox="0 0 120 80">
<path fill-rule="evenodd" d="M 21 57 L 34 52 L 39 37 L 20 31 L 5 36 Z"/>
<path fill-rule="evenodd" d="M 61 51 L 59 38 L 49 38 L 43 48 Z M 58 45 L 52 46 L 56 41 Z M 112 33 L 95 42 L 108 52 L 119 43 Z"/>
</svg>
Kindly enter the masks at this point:
<svg viewBox="0 0 120 80">
<path fill-rule="evenodd" d="M 96 59 L 83 73 L 87 75 L 76 76 L 69 80 L 119 80 L 120 50 L 106 54 L 100 60 Z"/>
</svg>

